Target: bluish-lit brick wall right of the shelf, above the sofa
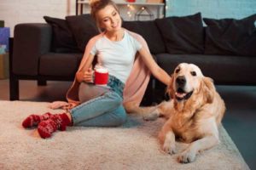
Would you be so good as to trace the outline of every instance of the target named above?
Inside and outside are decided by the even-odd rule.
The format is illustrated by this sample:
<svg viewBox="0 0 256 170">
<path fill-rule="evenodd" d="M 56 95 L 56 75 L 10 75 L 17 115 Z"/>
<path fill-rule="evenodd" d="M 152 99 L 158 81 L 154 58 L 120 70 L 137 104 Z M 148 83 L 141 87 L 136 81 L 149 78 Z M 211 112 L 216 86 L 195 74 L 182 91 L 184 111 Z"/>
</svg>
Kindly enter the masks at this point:
<svg viewBox="0 0 256 170">
<path fill-rule="evenodd" d="M 256 14 L 256 0 L 166 0 L 166 16 L 201 12 L 203 17 L 241 19 Z"/>
</svg>

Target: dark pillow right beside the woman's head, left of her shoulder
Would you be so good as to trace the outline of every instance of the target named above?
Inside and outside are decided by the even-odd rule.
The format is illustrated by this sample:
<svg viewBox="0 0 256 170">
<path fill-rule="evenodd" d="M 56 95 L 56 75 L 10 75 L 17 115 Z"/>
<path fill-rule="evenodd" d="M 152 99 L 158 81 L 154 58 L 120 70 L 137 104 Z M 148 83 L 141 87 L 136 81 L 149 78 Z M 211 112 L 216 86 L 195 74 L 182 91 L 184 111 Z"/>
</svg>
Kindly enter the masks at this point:
<svg viewBox="0 0 256 170">
<path fill-rule="evenodd" d="M 84 52 L 85 46 L 90 38 L 99 33 L 95 21 L 90 14 L 67 16 L 66 20 L 78 43 L 79 50 Z"/>
</svg>

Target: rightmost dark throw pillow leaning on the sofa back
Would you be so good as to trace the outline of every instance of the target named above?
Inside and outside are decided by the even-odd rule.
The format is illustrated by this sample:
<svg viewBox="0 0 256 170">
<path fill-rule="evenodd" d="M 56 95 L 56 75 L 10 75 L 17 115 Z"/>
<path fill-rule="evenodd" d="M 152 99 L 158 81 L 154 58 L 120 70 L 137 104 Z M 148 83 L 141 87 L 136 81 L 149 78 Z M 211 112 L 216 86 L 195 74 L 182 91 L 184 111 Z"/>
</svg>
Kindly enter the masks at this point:
<svg viewBox="0 0 256 170">
<path fill-rule="evenodd" d="M 207 24 L 205 54 L 256 56 L 256 14 L 241 20 L 203 20 Z"/>
</svg>

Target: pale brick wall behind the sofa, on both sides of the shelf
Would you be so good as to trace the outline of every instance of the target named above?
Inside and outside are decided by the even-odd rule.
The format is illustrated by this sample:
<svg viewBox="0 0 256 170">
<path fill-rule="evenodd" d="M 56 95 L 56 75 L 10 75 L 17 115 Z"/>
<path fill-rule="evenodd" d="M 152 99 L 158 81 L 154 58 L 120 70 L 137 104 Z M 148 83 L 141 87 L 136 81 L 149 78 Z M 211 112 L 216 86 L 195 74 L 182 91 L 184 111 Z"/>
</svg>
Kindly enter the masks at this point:
<svg viewBox="0 0 256 170">
<path fill-rule="evenodd" d="M 208 18 L 241 19 L 256 14 L 256 0 L 166 1 L 168 4 L 166 16 L 183 16 L 200 11 L 203 17 Z M 73 14 L 75 14 L 75 0 L 0 0 L 0 20 L 4 20 L 5 26 L 11 28 L 11 36 L 16 24 L 44 22 L 44 15 L 65 18 Z"/>
</svg>

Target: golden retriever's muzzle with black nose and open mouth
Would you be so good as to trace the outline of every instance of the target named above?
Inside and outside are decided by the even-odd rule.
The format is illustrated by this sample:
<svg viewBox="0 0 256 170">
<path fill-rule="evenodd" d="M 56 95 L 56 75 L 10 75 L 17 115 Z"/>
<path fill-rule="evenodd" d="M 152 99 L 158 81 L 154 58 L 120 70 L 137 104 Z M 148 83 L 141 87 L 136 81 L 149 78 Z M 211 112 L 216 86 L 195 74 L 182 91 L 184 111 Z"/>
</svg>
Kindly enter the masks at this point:
<svg viewBox="0 0 256 170">
<path fill-rule="evenodd" d="M 185 92 L 184 87 L 186 85 L 186 78 L 185 77 L 177 77 L 176 78 L 176 93 L 175 97 L 177 101 L 181 101 L 184 99 L 189 99 L 190 96 L 193 94 L 193 91 L 191 92 Z"/>
</svg>

